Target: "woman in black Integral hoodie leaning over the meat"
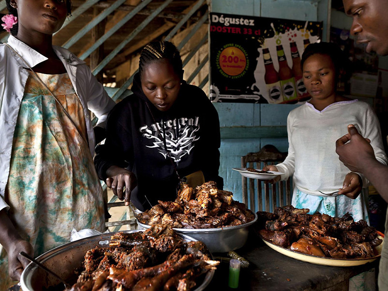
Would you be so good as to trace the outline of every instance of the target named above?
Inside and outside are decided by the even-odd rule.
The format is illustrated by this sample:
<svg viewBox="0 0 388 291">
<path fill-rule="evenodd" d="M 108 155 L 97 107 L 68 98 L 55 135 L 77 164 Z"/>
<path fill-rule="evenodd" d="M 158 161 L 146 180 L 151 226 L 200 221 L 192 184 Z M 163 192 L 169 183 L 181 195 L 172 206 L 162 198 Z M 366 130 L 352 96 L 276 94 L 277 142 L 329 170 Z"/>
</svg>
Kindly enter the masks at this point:
<svg viewBox="0 0 388 291">
<path fill-rule="evenodd" d="M 206 94 L 183 80 L 182 60 L 170 42 L 142 49 L 133 95 L 116 104 L 107 138 L 97 146 L 98 176 L 140 210 L 172 201 L 181 180 L 216 181 L 220 165 L 218 114 Z"/>
</svg>

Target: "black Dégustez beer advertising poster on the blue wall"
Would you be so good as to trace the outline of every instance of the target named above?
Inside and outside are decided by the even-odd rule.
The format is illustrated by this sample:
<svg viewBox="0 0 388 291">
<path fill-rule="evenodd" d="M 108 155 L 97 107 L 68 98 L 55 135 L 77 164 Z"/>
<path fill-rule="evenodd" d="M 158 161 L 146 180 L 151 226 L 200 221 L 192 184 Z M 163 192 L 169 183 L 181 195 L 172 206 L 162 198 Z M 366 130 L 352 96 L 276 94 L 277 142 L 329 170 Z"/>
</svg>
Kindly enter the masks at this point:
<svg viewBox="0 0 388 291">
<path fill-rule="evenodd" d="M 322 22 L 210 13 L 210 100 L 308 100 L 300 57 L 321 36 Z"/>
</svg>

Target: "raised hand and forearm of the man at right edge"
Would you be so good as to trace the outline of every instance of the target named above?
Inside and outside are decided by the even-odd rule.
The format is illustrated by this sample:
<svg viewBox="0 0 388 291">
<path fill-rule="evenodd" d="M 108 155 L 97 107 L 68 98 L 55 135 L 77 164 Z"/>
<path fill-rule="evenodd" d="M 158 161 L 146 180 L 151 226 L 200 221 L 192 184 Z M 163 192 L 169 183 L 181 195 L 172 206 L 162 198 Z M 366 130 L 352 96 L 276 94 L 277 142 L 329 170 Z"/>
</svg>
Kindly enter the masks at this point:
<svg viewBox="0 0 388 291">
<path fill-rule="evenodd" d="M 339 160 L 350 170 L 362 173 L 388 202 L 388 167 L 376 160 L 370 140 L 362 137 L 353 124 L 336 142 Z"/>
</svg>

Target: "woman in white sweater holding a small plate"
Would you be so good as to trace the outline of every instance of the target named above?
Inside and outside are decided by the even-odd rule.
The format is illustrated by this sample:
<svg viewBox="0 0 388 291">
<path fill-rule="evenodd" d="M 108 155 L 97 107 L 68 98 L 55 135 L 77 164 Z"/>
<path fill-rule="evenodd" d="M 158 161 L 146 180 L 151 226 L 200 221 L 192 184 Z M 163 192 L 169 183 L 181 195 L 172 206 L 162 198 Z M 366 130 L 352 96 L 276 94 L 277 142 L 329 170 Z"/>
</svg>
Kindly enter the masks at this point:
<svg viewBox="0 0 388 291">
<path fill-rule="evenodd" d="M 339 161 L 335 143 L 354 124 L 371 140 L 376 159 L 387 164 L 379 122 L 367 103 L 336 93 L 340 71 L 344 68 L 342 51 L 333 43 L 310 44 L 302 55 L 303 80 L 311 100 L 292 110 L 287 119 L 289 152 L 286 160 L 264 169 L 278 171 L 295 185 L 292 205 L 308 208 L 310 214 L 342 216 L 350 212 L 358 221 L 368 218 L 368 197 L 362 187 L 369 181 L 351 172 Z M 328 196 L 323 193 L 339 191 Z"/>
</svg>

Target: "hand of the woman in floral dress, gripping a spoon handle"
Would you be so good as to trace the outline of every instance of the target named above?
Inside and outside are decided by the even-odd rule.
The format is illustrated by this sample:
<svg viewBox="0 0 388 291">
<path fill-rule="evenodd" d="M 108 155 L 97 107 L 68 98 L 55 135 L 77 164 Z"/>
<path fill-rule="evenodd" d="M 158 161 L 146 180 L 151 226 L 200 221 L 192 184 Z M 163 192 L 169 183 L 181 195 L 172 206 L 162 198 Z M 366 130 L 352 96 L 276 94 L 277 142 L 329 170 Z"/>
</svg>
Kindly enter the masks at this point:
<svg viewBox="0 0 388 291">
<path fill-rule="evenodd" d="M 19 281 L 21 273 L 30 263 L 20 255 L 20 252 L 25 252 L 33 258 L 33 247 L 30 242 L 19 240 L 9 245 L 8 254 L 8 275 L 11 279 Z"/>
</svg>

